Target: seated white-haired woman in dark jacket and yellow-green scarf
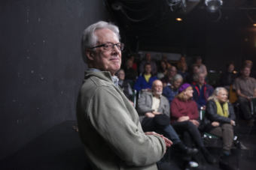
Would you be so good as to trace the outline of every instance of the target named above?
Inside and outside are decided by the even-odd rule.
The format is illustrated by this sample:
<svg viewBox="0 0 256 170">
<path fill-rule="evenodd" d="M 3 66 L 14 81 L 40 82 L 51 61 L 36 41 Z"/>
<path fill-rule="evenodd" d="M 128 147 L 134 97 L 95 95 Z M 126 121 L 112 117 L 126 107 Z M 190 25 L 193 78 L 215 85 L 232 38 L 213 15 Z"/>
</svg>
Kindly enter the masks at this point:
<svg viewBox="0 0 256 170">
<path fill-rule="evenodd" d="M 230 155 L 233 144 L 233 126 L 236 116 L 233 106 L 227 101 L 226 88 L 216 88 L 206 105 L 206 115 L 203 120 L 205 130 L 223 140 L 223 154 Z"/>
</svg>

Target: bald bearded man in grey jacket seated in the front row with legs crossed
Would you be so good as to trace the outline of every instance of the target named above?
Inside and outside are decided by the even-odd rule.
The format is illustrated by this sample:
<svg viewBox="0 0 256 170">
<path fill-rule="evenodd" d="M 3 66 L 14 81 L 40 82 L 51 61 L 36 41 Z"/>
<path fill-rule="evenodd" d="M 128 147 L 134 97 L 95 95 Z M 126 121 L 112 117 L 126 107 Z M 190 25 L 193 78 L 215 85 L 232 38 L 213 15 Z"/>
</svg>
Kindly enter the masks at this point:
<svg viewBox="0 0 256 170">
<path fill-rule="evenodd" d="M 144 92 L 138 100 L 137 110 L 142 119 L 142 129 L 148 131 L 160 131 L 171 139 L 173 145 L 185 154 L 196 154 L 197 149 L 187 148 L 178 138 L 177 133 L 169 124 L 169 101 L 162 96 L 163 84 L 155 80 L 152 92 Z"/>
</svg>

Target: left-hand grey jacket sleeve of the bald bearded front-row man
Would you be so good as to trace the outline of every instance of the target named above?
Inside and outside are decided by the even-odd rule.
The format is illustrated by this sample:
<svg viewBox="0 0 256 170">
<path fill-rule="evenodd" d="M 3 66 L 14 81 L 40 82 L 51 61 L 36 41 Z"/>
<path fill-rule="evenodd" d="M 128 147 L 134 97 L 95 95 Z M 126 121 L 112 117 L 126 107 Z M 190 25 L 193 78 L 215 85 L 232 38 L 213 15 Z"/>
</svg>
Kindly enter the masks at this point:
<svg viewBox="0 0 256 170">
<path fill-rule="evenodd" d="M 147 99 L 149 99 L 148 97 L 149 94 L 147 92 L 143 92 L 141 97 L 139 97 L 137 104 L 137 111 L 139 112 L 139 115 L 145 115 L 146 112 L 153 112 L 153 109 L 148 106 L 150 104 L 149 101 L 147 101 Z"/>
</svg>

